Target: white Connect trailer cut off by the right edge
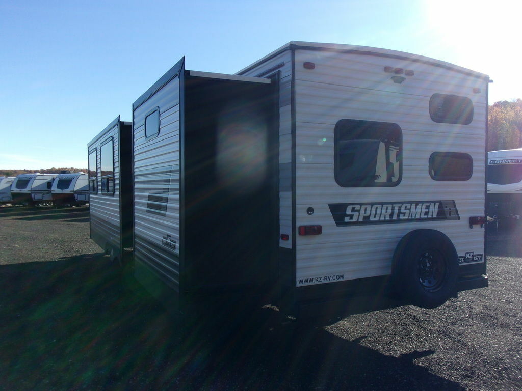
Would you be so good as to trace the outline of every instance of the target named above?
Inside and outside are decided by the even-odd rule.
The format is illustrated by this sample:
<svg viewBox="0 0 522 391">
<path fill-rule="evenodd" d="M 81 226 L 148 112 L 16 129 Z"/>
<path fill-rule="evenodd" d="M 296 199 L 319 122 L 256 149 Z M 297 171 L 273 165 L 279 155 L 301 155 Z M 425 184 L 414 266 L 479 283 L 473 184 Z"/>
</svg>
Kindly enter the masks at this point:
<svg viewBox="0 0 522 391">
<path fill-rule="evenodd" d="M 495 228 L 522 224 L 522 148 L 488 152 L 488 217 Z"/>
</svg>

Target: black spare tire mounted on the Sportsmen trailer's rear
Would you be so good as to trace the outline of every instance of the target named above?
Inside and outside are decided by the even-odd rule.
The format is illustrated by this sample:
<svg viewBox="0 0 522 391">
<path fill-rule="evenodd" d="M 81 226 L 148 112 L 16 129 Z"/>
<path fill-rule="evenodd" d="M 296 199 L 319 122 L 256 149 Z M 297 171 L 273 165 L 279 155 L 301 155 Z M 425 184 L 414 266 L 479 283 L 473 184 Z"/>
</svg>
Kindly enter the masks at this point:
<svg viewBox="0 0 522 391">
<path fill-rule="evenodd" d="M 411 231 L 395 249 L 392 280 L 401 298 L 414 306 L 442 306 L 455 295 L 457 276 L 457 251 L 440 231 Z"/>
</svg>

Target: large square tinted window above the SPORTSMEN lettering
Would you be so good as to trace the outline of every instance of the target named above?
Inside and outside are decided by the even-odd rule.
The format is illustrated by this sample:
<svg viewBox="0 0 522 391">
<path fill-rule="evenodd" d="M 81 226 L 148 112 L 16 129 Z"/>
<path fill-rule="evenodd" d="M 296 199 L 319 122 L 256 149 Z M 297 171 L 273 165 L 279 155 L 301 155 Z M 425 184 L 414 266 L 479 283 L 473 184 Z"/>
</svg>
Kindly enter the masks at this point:
<svg viewBox="0 0 522 391">
<path fill-rule="evenodd" d="M 402 131 L 397 124 L 341 119 L 335 126 L 335 180 L 342 187 L 397 186 Z"/>
</svg>

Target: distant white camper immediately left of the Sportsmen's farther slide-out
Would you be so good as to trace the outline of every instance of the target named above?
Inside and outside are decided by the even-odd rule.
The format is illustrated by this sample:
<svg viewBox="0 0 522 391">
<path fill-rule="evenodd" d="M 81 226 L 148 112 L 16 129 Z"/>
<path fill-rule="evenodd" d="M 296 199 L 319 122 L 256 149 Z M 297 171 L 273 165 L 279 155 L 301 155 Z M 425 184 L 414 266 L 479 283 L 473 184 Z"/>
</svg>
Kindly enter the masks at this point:
<svg viewBox="0 0 522 391">
<path fill-rule="evenodd" d="M 85 173 L 58 174 L 51 189 L 56 205 L 85 205 L 89 202 L 89 179 Z"/>
</svg>

